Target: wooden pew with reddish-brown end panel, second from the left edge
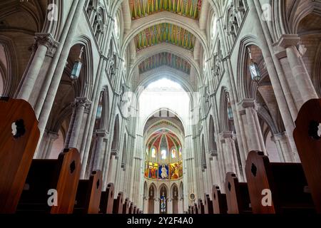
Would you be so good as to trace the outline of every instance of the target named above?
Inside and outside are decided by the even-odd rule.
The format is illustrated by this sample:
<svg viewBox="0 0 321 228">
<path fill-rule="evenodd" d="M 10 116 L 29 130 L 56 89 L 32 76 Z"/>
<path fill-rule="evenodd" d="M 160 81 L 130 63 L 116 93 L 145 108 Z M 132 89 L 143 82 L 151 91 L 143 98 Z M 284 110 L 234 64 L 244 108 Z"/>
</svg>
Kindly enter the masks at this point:
<svg viewBox="0 0 321 228">
<path fill-rule="evenodd" d="M 77 149 L 63 150 L 55 160 L 33 160 L 17 212 L 73 213 L 80 171 Z M 56 206 L 49 207 L 49 190 L 57 192 Z"/>
</svg>

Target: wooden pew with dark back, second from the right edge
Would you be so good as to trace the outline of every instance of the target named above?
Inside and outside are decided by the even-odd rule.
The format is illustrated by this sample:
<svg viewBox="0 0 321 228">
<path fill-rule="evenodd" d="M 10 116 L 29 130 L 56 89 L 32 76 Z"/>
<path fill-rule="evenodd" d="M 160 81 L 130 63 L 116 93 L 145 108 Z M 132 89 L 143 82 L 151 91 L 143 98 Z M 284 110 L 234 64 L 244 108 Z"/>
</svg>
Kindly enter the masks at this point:
<svg viewBox="0 0 321 228">
<path fill-rule="evenodd" d="M 315 212 L 300 163 L 270 162 L 263 152 L 252 151 L 245 172 L 254 213 Z M 270 206 L 263 205 L 263 190 L 272 193 Z"/>
</svg>

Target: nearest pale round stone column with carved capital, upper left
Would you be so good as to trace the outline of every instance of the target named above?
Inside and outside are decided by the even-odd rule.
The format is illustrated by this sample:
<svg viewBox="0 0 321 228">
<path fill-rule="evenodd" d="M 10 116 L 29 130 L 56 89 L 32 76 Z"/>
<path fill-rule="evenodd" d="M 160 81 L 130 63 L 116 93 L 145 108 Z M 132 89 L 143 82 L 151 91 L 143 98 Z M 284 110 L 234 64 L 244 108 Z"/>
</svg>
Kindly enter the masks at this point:
<svg viewBox="0 0 321 228">
<path fill-rule="evenodd" d="M 58 43 L 54 41 L 54 38 L 50 33 L 36 33 L 35 40 L 34 49 L 36 49 L 36 53 L 34 53 L 34 57 L 32 58 L 31 65 L 24 77 L 24 82 L 21 85 L 19 93 L 16 95 L 16 98 L 27 101 L 29 101 L 36 79 L 41 71 L 41 66 L 46 58 L 46 54 L 48 52 L 53 52 L 58 46 Z"/>
</svg>

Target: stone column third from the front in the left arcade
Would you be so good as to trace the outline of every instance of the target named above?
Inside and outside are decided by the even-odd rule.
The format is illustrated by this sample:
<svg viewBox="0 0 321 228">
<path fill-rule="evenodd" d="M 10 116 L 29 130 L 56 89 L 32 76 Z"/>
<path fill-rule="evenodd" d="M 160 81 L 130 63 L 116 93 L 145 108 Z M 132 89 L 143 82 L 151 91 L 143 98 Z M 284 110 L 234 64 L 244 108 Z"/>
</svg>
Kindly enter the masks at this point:
<svg viewBox="0 0 321 228">
<path fill-rule="evenodd" d="M 103 165 L 103 150 L 104 140 L 106 140 L 106 136 L 108 133 L 106 130 L 97 130 L 96 131 L 96 148 L 95 148 L 95 158 L 93 160 L 93 170 L 102 170 Z"/>
</svg>

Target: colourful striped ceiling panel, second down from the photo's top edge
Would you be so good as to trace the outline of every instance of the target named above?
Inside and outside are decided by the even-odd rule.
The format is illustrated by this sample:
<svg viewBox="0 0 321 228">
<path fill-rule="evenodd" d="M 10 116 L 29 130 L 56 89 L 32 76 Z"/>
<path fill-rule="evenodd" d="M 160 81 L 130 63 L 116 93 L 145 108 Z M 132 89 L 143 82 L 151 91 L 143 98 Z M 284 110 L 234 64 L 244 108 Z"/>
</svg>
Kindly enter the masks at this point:
<svg viewBox="0 0 321 228">
<path fill-rule="evenodd" d="M 173 24 L 163 23 L 146 28 L 135 38 L 136 51 L 154 46 L 158 43 L 171 43 L 190 51 L 194 50 L 195 36 L 184 28 Z"/>
</svg>

